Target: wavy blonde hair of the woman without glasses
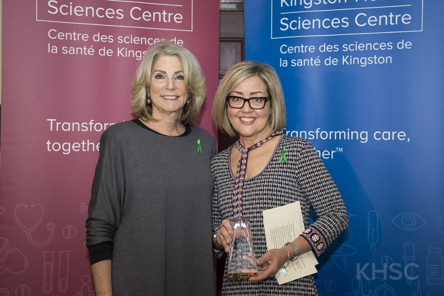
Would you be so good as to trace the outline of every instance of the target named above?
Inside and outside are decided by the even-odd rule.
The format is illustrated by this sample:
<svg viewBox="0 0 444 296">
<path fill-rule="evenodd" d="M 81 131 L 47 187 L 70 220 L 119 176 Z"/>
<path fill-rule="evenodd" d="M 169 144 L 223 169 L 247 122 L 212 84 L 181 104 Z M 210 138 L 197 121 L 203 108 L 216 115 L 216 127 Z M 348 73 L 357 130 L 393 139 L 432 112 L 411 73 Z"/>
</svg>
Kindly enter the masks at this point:
<svg viewBox="0 0 444 296">
<path fill-rule="evenodd" d="M 196 57 L 185 47 L 162 40 L 148 48 L 140 61 L 133 81 L 131 106 L 134 113 L 144 120 L 154 120 L 152 106 L 147 104 L 151 85 L 153 66 L 160 56 L 176 56 L 184 69 L 185 89 L 188 92 L 189 104 L 185 104 L 182 116 L 178 119 L 183 124 L 195 123 L 205 100 L 205 79 Z"/>
</svg>

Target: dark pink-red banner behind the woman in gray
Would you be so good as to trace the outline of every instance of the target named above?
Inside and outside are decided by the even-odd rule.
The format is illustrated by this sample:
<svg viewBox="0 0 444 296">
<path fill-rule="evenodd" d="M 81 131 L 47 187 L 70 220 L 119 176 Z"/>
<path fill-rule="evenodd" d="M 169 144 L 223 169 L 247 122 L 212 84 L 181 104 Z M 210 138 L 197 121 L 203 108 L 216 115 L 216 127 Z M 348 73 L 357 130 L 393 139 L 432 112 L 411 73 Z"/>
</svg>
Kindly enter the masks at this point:
<svg viewBox="0 0 444 296">
<path fill-rule="evenodd" d="M 99 139 L 134 118 L 131 80 L 149 45 L 196 55 L 200 126 L 216 137 L 219 1 L 165 2 L 3 1 L 0 295 L 94 295 L 84 241 Z"/>
</svg>

